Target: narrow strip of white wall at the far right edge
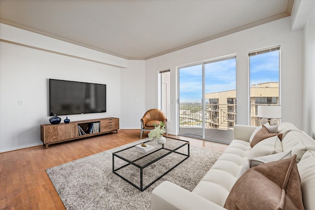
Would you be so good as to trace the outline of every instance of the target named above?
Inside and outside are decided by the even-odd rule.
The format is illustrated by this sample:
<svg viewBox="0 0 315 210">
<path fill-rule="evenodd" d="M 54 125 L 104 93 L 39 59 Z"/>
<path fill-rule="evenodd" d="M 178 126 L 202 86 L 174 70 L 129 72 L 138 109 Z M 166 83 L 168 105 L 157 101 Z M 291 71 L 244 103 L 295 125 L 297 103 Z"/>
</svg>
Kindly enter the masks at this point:
<svg viewBox="0 0 315 210">
<path fill-rule="evenodd" d="M 315 6 L 304 27 L 303 129 L 315 139 Z"/>
</svg>

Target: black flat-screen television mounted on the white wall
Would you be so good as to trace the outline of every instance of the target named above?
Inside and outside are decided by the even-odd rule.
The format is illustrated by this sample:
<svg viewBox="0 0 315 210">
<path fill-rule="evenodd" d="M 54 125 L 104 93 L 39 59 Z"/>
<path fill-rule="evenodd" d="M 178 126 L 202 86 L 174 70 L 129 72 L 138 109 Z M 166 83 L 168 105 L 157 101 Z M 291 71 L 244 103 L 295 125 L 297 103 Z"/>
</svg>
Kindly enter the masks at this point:
<svg viewBox="0 0 315 210">
<path fill-rule="evenodd" d="M 106 112 L 106 85 L 49 79 L 50 116 Z"/>
</svg>

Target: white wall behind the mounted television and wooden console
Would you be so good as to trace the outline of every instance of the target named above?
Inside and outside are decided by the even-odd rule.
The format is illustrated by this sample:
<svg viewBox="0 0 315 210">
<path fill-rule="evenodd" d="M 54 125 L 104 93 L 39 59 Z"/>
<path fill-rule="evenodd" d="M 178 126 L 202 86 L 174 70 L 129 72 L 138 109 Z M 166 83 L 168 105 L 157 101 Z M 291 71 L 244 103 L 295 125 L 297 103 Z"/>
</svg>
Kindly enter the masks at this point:
<svg viewBox="0 0 315 210">
<path fill-rule="evenodd" d="M 121 129 L 140 127 L 138 120 L 144 113 L 143 60 L 112 58 L 29 31 L 3 24 L 0 27 L 1 39 L 5 40 L 0 42 L 0 152 L 42 144 L 40 124 L 49 123 L 51 118 L 49 78 L 107 85 L 106 113 L 69 115 L 70 120 L 117 117 Z M 18 100 L 23 100 L 23 105 L 19 106 Z M 66 116 L 60 117 L 63 120 Z"/>
</svg>

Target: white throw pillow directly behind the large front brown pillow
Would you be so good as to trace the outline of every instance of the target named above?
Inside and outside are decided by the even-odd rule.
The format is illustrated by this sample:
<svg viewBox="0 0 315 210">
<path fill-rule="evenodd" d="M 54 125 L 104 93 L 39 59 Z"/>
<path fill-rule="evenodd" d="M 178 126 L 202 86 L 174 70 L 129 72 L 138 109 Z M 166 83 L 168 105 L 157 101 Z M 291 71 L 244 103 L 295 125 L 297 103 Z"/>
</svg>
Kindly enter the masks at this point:
<svg viewBox="0 0 315 210">
<path fill-rule="evenodd" d="M 273 162 L 273 161 L 277 161 L 277 160 L 282 160 L 285 158 L 290 158 L 291 156 L 292 155 L 291 155 L 291 150 L 290 150 L 290 151 L 284 151 L 281 153 L 275 153 L 275 154 L 270 154 L 270 155 L 265 155 L 262 157 L 256 157 L 256 158 L 249 159 L 248 163 L 246 163 L 242 167 L 240 175 L 238 176 L 237 179 L 239 179 L 245 172 L 247 172 L 247 170 L 249 170 L 250 168 L 252 168 L 254 166 L 258 166 L 258 165 L 263 164 L 263 163 L 269 163 L 269 162 Z"/>
</svg>

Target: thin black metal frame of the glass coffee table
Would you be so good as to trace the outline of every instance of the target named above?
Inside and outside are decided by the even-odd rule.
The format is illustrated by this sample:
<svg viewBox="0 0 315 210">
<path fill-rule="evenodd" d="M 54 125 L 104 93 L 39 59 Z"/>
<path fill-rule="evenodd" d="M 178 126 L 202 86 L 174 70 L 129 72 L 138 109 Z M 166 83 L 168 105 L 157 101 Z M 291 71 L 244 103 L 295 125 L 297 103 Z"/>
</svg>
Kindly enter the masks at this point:
<svg viewBox="0 0 315 210">
<path fill-rule="evenodd" d="M 132 186 L 134 186 L 134 187 L 136 187 L 137 189 L 139 189 L 141 192 L 144 191 L 145 189 L 147 189 L 148 187 L 150 187 L 152 184 L 154 184 L 157 180 L 161 179 L 164 175 L 166 175 L 168 172 L 172 171 L 175 167 L 177 167 L 179 164 L 181 164 L 181 163 L 184 162 L 187 158 L 189 158 L 189 141 L 180 140 L 180 139 L 175 139 L 175 138 L 171 138 L 171 137 L 166 137 L 166 138 L 168 138 L 168 139 L 174 139 L 174 140 L 182 141 L 182 142 L 186 142 L 186 143 L 183 144 L 183 145 L 181 145 L 181 146 L 179 146 L 179 147 L 177 147 L 177 148 L 175 148 L 174 150 L 170 150 L 170 149 L 164 148 L 164 144 L 163 144 L 163 145 L 162 145 L 162 148 L 160 148 L 160 149 L 158 149 L 158 150 L 155 150 L 155 151 L 152 151 L 152 152 L 149 152 L 149 153 L 147 153 L 147 154 L 145 154 L 145 155 L 143 155 L 143 156 L 141 156 L 141 157 L 139 157 L 139 158 L 137 158 L 137 159 L 135 159 L 135 160 L 132 160 L 132 161 L 130 161 L 130 160 L 128 160 L 128 159 L 126 159 L 126 158 L 124 158 L 124 157 L 122 157 L 122 156 L 120 156 L 120 155 L 118 155 L 118 154 L 116 154 L 116 153 L 121 152 L 121 151 L 124 151 L 124 150 L 128 150 L 128 149 L 133 148 L 133 147 L 135 147 L 135 146 L 131 146 L 131 147 L 128 147 L 128 148 L 126 148 L 126 149 L 124 149 L 124 150 L 119 150 L 119 151 L 113 152 L 113 173 L 116 174 L 117 176 L 121 177 L 123 180 L 126 180 L 128 183 L 130 183 Z M 146 141 L 146 142 L 150 142 L 150 140 L 149 140 L 149 141 Z M 143 143 L 146 143 L 146 142 L 143 142 Z M 182 153 L 182 152 L 178 152 L 178 151 L 177 151 L 177 150 L 179 150 L 180 148 L 182 148 L 182 147 L 184 147 L 184 146 L 186 146 L 186 145 L 188 146 L 188 154 L 184 154 L 184 153 Z M 147 164 L 145 164 L 145 165 L 143 165 L 143 166 L 140 166 L 140 165 L 134 163 L 135 161 L 138 161 L 138 160 L 140 160 L 140 159 L 142 159 L 142 158 L 144 158 L 144 157 L 146 157 L 146 156 L 148 156 L 148 155 L 150 155 L 150 154 L 152 154 L 152 153 L 154 153 L 154 152 L 157 152 L 157 151 L 159 151 L 159 150 L 169 150 L 169 152 L 167 152 L 167 153 L 161 155 L 161 156 L 158 157 L 157 159 L 154 159 L 154 160 L 152 160 L 151 162 L 149 162 L 149 163 L 147 163 Z M 159 176 L 156 180 L 152 181 L 151 183 L 147 184 L 146 186 L 143 186 L 143 169 L 145 169 L 146 167 L 150 166 L 151 164 L 157 162 L 158 160 L 162 159 L 163 157 L 165 157 L 165 156 L 167 156 L 167 155 L 169 155 L 169 154 L 171 154 L 171 153 L 173 153 L 173 152 L 178 153 L 178 154 L 181 154 L 181 155 L 184 155 L 184 156 L 186 156 L 186 157 L 185 157 L 183 160 L 181 160 L 179 163 L 177 163 L 175 166 L 173 166 L 172 168 L 170 168 L 169 170 L 167 170 L 165 173 L 163 173 L 161 176 Z M 121 167 L 119 167 L 119 168 L 117 168 L 117 169 L 115 169 L 115 156 L 118 157 L 118 158 L 120 158 L 120 159 L 122 159 L 122 160 L 124 160 L 124 161 L 126 161 L 127 164 L 126 164 L 126 165 L 123 165 L 123 166 L 121 166 Z M 124 168 L 124 167 L 126 167 L 126 166 L 128 166 L 128 165 L 130 165 L 130 164 L 131 164 L 131 165 L 134 165 L 135 167 L 137 167 L 137 168 L 140 169 L 140 187 L 139 187 L 138 185 L 134 184 L 133 182 L 131 182 L 130 180 L 127 180 L 125 177 L 123 177 L 122 175 L 120 175 L 120 174 L 118 174 L 118 173 L 116 172 L 116 171 L 118 171 L 118 170 L 120 170 L 120 169 L 122 169 L 122 168 Z"/>
</svg>

